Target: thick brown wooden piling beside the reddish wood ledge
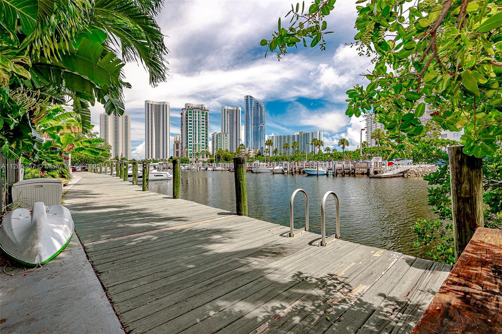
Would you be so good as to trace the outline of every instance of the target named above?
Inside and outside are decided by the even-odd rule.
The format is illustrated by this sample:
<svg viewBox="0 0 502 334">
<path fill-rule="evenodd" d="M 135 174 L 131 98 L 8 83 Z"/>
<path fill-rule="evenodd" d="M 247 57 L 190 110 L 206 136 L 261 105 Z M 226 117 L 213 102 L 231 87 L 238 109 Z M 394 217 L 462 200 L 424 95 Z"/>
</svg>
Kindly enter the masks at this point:
<svg viewBox="0 0 502 334">
<path fill-rule="evenodd" d="M 483 227 L 483 162 L 465 154 L 464 146 L 450 146 L 451 213 L 455 260 L 458 259 L 476 228 Z"/>
</svg>

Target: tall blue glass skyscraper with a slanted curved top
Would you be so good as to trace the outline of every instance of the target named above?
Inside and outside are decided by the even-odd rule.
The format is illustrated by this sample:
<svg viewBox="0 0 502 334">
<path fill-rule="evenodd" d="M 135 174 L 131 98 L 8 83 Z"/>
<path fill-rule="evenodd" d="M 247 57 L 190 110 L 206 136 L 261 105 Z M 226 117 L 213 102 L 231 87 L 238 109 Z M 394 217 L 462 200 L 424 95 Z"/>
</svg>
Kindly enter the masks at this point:
<svg viewBox="0 0 502 334">
<path fill-rule="evenodd" d="M 265 106 L 253 96 L 244 96 L 244 145 L 265 151 Z"/>
</svg>

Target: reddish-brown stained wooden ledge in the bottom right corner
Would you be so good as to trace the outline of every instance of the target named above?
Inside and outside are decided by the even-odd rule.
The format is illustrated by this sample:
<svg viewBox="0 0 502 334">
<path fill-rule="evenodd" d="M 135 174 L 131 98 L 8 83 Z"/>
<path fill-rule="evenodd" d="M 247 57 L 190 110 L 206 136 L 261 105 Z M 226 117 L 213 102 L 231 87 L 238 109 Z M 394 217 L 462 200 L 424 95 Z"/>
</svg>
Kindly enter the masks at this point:
<svg viewBox="0 0 502 334">
<path fill-rule="evenodd" d="M 478 228 L 414 333 L 502 332 L 502 231 Z"/>
</svg>

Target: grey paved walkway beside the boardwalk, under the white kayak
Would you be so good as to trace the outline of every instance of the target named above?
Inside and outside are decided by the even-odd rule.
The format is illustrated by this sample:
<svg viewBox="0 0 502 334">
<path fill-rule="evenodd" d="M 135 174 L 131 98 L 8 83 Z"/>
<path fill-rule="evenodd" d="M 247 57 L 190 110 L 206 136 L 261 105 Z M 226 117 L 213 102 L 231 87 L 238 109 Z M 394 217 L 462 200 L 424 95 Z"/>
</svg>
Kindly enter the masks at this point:
<svg viewBox="0 0 502 334">
<path fill-rule="evenodd" d="M 79 179 L 75 176 L 63 191 Z M 14 264 L 5 270 L 25 269 Z M 64 252 L 40 270 L 15 276 L 0 270 L 0 278 L 2 333 L 124 332 L 75 233 Z"/>
</svg>

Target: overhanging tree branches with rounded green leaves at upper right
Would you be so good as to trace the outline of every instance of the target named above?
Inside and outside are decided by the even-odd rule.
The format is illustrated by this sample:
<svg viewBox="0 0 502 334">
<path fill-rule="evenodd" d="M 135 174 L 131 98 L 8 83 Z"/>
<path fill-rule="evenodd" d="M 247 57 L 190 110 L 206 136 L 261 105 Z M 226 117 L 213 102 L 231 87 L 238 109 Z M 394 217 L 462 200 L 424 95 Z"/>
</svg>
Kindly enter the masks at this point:
<svg viewBox="0 0 502 334">
<path fill-rule="evenodd" d="M 278 31 L 260 44 L 279 59 L 298 43 L 321 42 L 324 50 L 325 17 L 334 4 L 292 6 L 290 26 L 279 19 Z M 420 120 L 426 109 L 442 129 L 464 131 L 464 153 L 493 155 L 502 135 L 499 1 L 360 0 L 356 10 L 352 46 L 372 57 L 374 70 L 363 74 L 367 85 L 347 91 L 346 114 L 374 113 L 392 140 L 390 158 L 404 157 L 407 144 L 430 131 L 432 122 Z"/>
</svg>

